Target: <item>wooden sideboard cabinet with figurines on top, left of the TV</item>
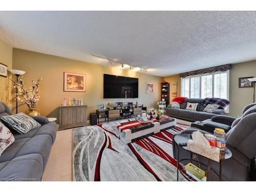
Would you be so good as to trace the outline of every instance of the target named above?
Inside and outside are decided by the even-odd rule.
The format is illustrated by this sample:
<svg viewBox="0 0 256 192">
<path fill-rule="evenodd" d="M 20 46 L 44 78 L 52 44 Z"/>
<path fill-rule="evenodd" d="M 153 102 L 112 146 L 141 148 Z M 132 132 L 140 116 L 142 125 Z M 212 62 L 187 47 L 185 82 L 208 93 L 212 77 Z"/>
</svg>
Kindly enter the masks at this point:
<svg viewBox="0 0 256 192">
<path fill-rule="evenodd" d="M 59 106 L 59 130 L 86 125 L 87 105 Z"/>
</svg>

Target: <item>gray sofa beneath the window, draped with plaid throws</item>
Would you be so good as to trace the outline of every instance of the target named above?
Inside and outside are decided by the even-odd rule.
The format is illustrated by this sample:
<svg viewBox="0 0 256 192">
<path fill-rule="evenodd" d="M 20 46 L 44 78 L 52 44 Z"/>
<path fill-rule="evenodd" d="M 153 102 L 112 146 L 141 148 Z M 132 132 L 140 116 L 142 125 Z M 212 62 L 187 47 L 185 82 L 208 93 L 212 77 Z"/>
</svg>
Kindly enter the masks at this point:
<svg viewBox="0 0 256 192">
<path fill-rule="evenodd" d="M 189 99 L 186 98 L 182 104 L 180 104 L 179 108 L 172 108 L 172 105 L 169 104 L 166 107 L 166 115 L 178 119 L 183 119 L 187 121 L 203 121 L 205 119 L 210 119 L 216 115 L 224 115 L 225 111 L 218 109 L 214 113 L 206 113 L 203 112 L 205 106 L 201 105 L 203 99 Z M 187 106 L 187 102 L 190 103 L 198 103 L 197 111 L 185 110 Z"/>
</svg>

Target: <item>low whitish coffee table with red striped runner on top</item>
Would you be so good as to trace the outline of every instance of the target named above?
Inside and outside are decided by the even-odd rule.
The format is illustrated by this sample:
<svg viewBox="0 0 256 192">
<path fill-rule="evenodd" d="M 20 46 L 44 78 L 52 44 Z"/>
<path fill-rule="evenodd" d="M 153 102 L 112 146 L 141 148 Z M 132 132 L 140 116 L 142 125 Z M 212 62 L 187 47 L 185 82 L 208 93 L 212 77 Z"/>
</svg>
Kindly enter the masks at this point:
<svg viewBox="0 0 256 192">
<path fill-rule="evenodd" d="M 128 121 L 120 123 L 116 128 L 116 135 L 125 144 L 134 142 L 152 134 L 159 133 L 161 130 L 176 126 L 175 118 L 166 118 L 150 121 L 148 123 L 140 123 L 139 121 Z"/>
</svg>

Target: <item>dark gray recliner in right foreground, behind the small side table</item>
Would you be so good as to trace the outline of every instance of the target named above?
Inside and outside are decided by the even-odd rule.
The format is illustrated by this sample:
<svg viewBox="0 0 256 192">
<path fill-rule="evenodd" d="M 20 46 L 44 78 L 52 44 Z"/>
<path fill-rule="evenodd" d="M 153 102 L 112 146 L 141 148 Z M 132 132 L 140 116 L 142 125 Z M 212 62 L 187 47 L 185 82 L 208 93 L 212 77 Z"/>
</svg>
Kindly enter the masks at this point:
<svg viewBox="0 0 256 192">
<path fill-rule="evenodd" d="M 248 106 L 248 105 L 247 105 Z M 231 129 L 226 134 L 227 147 L 232 152 L 230 159 L 222 162 L 222 180 L 224 181 L 248 181 L 255 179 L 255 156 L 256 156 L 256 103 L 250 104 L 245 107 L 241 118 L 224 118 L 221 116 L 219 122 L 232 121 Z M 224 118 L 224 119 L 223 119 Z M 221 121 L 221 119 L 223 121 Z M 198 131 L 194 127 L 188 128 L 179 134 L 187 134 Z M 206 131 L 199 130 L 202 133 Z M 173 140 L 176 135 L 174 135 Z M 190 153 L 185 151 L 177 143 L 173 142 L 174 158 L 177 160 L 177 150 L 179 147 L 179 158 L 189 158 Z M 200 162 L 207 164 L 207 159 L 198 156 Z M 219 163 L 213 161 L 211 164 L 212 169 L 217 173 L 219 172 Z"/>
</svg>

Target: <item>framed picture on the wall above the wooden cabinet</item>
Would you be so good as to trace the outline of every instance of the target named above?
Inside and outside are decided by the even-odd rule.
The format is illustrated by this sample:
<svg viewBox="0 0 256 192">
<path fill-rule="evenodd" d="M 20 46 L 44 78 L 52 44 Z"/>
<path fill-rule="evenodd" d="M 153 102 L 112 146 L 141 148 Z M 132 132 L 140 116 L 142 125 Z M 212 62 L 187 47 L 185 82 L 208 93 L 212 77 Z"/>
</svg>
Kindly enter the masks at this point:
<svg viewBox="0 0 256 192">
<path fill-rule="evenodd" d="M 86 92 L 86 75 L 64 72 L 64 91 Z"/>
</svg>

